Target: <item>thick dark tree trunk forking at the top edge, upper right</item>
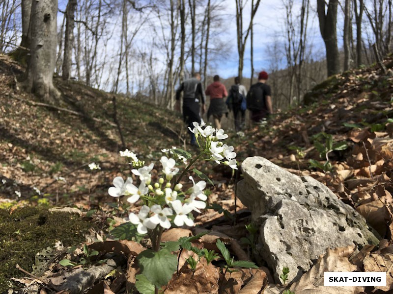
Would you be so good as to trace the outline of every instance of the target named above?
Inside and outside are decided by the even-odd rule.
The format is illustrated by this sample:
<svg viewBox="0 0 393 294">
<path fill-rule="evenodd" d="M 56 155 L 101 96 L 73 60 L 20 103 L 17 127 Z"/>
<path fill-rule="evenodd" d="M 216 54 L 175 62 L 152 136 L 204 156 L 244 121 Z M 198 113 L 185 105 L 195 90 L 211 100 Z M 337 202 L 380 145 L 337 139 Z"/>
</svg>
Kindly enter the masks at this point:
<svg viewBox="0 0 393 294">
<path fill-rule="evenodd" d="M 326 2 L 317 0 L 319 29 L 325 43 L 328 76 L 339 73 L 338 47 L 337 47 L 337 4 L 338 0 L 329 0 L 325 13 Z"/>
</svg>

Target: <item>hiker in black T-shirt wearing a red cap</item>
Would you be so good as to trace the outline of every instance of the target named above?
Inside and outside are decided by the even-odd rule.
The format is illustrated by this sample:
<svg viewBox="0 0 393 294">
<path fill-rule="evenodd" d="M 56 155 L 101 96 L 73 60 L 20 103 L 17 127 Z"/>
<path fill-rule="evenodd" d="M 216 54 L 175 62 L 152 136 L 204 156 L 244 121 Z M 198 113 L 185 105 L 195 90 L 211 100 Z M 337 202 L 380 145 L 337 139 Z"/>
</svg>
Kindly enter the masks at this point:
<svg viewBox="0 0 393 294">
<path fill-rule="evenodd" d="M 273 114 L 270 86 L 266 85 L 269 75 L 260 72 L 258 82 L 250 87 L 247 95 L 247 109 L 251 111 L 251 120 L 260 123 Z"/>
</svg>

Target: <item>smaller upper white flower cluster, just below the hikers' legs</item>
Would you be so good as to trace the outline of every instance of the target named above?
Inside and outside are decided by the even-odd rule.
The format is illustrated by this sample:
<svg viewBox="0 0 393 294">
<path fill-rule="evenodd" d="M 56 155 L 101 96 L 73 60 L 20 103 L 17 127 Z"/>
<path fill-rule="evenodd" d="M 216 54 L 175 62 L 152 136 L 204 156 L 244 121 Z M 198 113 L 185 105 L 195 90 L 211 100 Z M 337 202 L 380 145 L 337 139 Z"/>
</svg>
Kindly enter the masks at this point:
<svg viewBox="0 0 393 294">
<path fill-rule="evenodd" d="M 214 160 L 217 164 L 224 163 L 233 170 L 237 170 L 236 153 L 233 152 L 233 146 L 223 144 L 220 140 L 228 138 L 223 129 L 215 129 L 207 125 L 204 129 L 205 123 L 193 123 L 194 128 L 190 131 L 195 134 L 199 147 L 203 145 L 210 151 L 209 160 Z"/>
</svg>

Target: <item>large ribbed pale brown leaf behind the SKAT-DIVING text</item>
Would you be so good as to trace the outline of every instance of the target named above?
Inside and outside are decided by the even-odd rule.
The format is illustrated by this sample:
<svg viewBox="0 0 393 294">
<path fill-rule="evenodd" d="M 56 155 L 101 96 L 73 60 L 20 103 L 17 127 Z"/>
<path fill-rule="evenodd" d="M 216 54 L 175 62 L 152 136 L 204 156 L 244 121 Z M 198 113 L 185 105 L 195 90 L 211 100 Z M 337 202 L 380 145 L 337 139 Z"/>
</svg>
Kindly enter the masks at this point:
<svg viewBox="0 0 393 294">
<path fill-rule="evenodd" d="M 320 257 L 317 263 L 299 281 L 289 288 L 296 294 L 357 294 L 364 287 L 325 287 L 325 271 L 354 271 L 356 266 L 351 264 L 348 256 L 354 251 L 354 246 L 327 249 L 326 254 Z"/>
</svg>

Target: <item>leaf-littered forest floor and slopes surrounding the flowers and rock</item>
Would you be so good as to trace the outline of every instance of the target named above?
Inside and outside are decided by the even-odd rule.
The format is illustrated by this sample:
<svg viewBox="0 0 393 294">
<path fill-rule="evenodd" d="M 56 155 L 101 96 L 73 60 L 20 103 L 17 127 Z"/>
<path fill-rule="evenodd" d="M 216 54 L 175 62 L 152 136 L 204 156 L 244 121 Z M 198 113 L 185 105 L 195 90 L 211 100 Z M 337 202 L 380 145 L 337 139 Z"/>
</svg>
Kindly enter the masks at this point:
<svg viewBox="0 0 393 294">
<path fill-rule="evenodd" d="M 381 253 L 392 245 L 393 232 L 392 59 L 385 60 L 385 66 L 387 73 L 375 65 L 331 77 L 308 94 L 314 101 L 308 106 L 293 107 L 264 125 L 250 126 L 244 136 L 228 130 L 225 142 L 235 147 L 240 163 L 249 156 L 263 156 L 290 172 L 325 183 L 381 235 L 385 241 L 380 248 L 367 248 L 364 255 L 383 258 L 385 271 L 391 271 L 387 287 L 346 293 L 393 289 L 393 255 Z M 7 56 L 0 56 L 0 292 L 37 293 L 40 289 L 40 293 L 55 293 L 56 283 L 69 270 L 59 265 L 59 260 L 67 256 L 80 260 L 84 244 L 93 250 L 94 241 L 110 240 L 110 231 L 128 215 L 127 207 L 108 195 L 115 176 L 130 174 L 119 151 L 128 148 L 140 160 L 157 164 L 163 148 L 175 146 L 190 153 L 195 149 L 187 145 L 188 135 L 179 114 L 59 78 L 55 84 L 62 98 L 56 106 L 46 105 L 21 91 L 18 78 L 23 71 Z M 91 171 L 88 164 L 92 162 L 101 170 Z M 245 225 L 251 221 L 250 211 L 239 200 L 235 203 L 235 179 L 241 174 L 234 176 L 230 168 L 210 163 L 197 169 L 215 184 L 209 187 L 211 207 L 219 205 L 196 218 L 200 228 L 214 231 L 210 239 L 201 242 L 214 248 L 220 238 L 231 245 L 232 255 L 251 260 L 250 246 L 238 242 L 248 237 Z M 177 240 L 190 231 L 171 232 L 167 240 Z M 72 250 L 70 246 L 74 246 Z M 124 255 L 124 248 L 118 251 Z M 359 259 L 359 270 L 363 270 L 363 259 Z M 196 280 L 194 286 L 181 289 L 238 293 L 247 285 L 251 292 L 245 293 L 258 293 L 250 290 L 251 285 L 254 289 L 264 287 L 265 293 L 281 293 L 283 289 L 301 293 L 305 284 L 310 287 L 304 280 L 302 285 L 275 286 L 269 265 L 259 266 L 259 277 L 266 278 L 260 278 L 256 286 L 252 285 L 256 272 L 241 270 L 237 275 L 221 276 L 220 290 L 214 292 L 219 268 L 204 266 L 210 279 L 196 274 L 196 279 L 204 281 L 198 284 Z M 102 277 L 95 285 L 96 292 L 89 293 L 102 289 L 124 293 L 132 284 L 130 268 L 125 263 L 116 277 Z M 181 282 L 185 283 L 179 279 L 171 282 L 165 293 L 180 289 Z M 210 285 L 210 290 L 193 288 L 203 283 Z"/>
</svg>

